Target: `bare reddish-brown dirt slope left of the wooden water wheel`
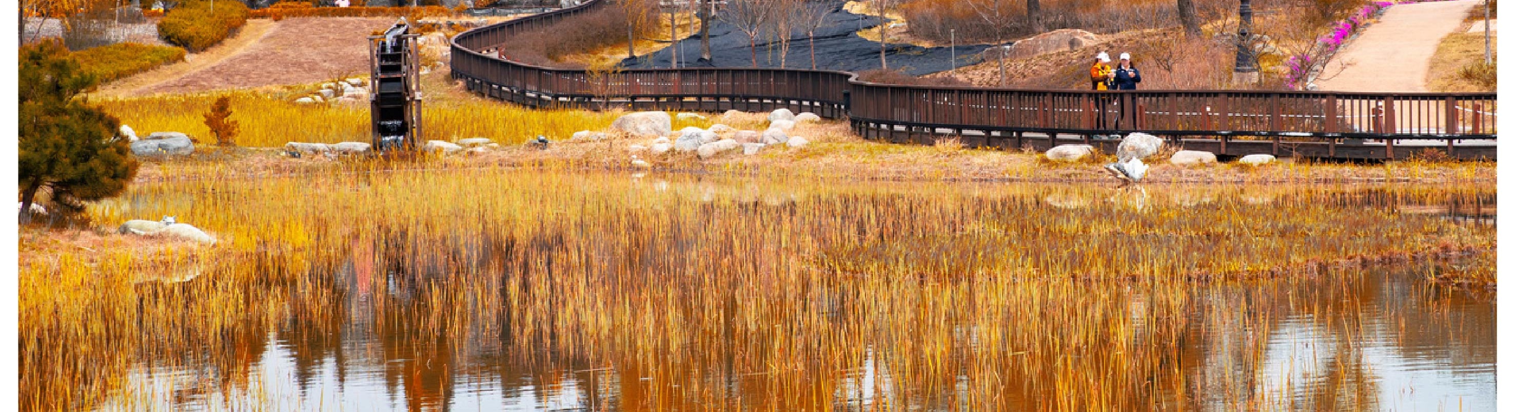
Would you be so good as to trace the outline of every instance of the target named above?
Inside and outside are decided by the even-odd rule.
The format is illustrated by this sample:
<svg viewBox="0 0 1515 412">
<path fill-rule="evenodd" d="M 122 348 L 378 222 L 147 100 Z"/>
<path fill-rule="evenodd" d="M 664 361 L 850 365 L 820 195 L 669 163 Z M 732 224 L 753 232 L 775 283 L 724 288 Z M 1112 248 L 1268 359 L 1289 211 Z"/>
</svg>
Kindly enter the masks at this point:
<svg viewBox="0 0 1515 412">
<path fill-rule="evenodd" d="M 100 94 L 261 88 L 362 74 L 368 71 L 368 35 L 392 23 L 392 18 L 345 17 L 248 20 L 226 44 L 186 62 L 111 83 Z"/>
</svg>

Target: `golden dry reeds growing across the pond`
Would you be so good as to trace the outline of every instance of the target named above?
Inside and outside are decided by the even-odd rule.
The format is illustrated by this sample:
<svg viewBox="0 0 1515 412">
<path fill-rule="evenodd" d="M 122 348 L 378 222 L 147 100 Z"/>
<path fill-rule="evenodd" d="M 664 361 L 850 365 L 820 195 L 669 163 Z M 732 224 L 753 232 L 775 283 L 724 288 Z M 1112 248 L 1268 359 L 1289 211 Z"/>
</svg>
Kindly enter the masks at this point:
<svg viewBox="0 0 1515 412">
<path fill-rule="evenodd" d="M 1188 330 L 1209 336 L 1239 321 L 1267 335 L 1271 306 L 1257 301 L 1257 311 L 1215 312 L 1250 314 L 1226 323 L 1192 317 L 1206 304 L 1188 292 L 1192 282 L 1351 283 L 1342 268 L 1491 247 L 1495 235 L 1359 208 L 1310 185 L 965 191 L 348 167 L 358 174 L 203 171 L 91 208 L 97 221 L 176 215 L 223 239 L 148 267 L 132 248 L 79 253 L 23 236 L 23 250 L 52 250 L 21 265 L 23 409 L 88 409 L 148 359 L 208 371 L 182 391 L 274 401 L 259 398 L 256 377 L 248 382 L 273 330 L 300 356 L 321 359 L 339 344 L 324 338 L 329 330 L 373 314 L 385 356 L 429 360 L 386 367 L 423 407 L 444 404 L 427 394 L 445 394 L 453 374 L 509 365 L 533 376 L 614 368 L 623 382 L 647 377 L 659 391 L 629 400 L 668 409 L 826 409 L 873 392 L 891 407 L 1124 410 L 1195 389 L 1180 367 L 1198 362 L 1183 357 Z M 1420 203 L 1479 191 L 1492 188 L 1380 197 Z M 1057 206 L 1070 203 L 1054 195 L 1082 206 Z M 111 242 L 132 241 L 94 244 Z M 200 276 L 136 283 L 142 270 Z M 503 357 L 470 357 L 480 351 Z M 892 389 L 841 373 L 865 364 Z M 726 383 L 733 379 L 742 389 Z"/>
</svg>

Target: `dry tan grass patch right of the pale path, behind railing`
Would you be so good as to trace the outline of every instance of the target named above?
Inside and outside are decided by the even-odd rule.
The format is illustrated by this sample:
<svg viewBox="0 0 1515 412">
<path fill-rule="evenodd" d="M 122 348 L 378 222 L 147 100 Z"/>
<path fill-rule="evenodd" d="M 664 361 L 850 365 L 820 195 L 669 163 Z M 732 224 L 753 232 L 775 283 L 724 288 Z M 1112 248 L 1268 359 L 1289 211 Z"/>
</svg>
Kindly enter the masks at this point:
<svg viewBox="0 0 1515 412">
<path fill-rule="evenodd" d="M 1494 39 L 1498 50 L 1498 38 Z M 1498 64 L 1498 53 L 1494 53 Z M 1426 89 L 1433 92 L 1492 92 L 1498 88 L 1497 74 L 1483 67 L 1483 33 L 1453 32 L 1441 39 L 1436 55 L 1430 58 L 1426 74 Z"/>
</svg>

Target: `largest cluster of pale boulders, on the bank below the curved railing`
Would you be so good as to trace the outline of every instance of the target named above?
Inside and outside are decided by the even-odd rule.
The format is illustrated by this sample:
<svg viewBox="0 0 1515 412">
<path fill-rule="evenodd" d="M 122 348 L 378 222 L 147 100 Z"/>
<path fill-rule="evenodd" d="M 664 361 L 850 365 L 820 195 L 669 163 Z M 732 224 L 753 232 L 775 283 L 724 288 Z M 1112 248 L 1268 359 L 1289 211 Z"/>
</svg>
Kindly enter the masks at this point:
<svg viewBox="0 0 1515 412">
<path fill-rule="evenodd" d="M 726 112 L 726 118 L 733 114 L 741 114 L 738 111 Z M 708 117 L 700 114 L 677 114 L 670 117 L 667 112 L 635 112 L 617 118 L 611 123 L 611 129 L 618 133 L 630 135 L 633 138 L 651 138 L 645 144 L 630 144 L 627 150 L 632 153 L 650 153 L 664 154 L 668 151 L 677 153 L 694 153 L 701 159 L 720 156 L 721 153 L 741 150 L 745 156 L 753 156 L 761 153 L 770 145 L 786 145 L 791 148 L 804 147 L 809 139 L 803 136 L 791 136 L 789 132 L 798 123 L 820 121 L 821 118 L 815 114 L 798 114 L 795 115 L 789 109 L 777 109 L 768 114 L 768 129 L 758 130 L 739 130 L 721 123 L 712 124 L 708 129 L 700 127 L 683 127 L 677 132 L 673 130 L 673 120 L 680 121 L 698 121 L 708 120 Z M 574 139 L 589 139 L 600 141 L 608 135 L 600 132 L 577 132 L 573 135 Z M 632 165 L 635 167 L 651 167 L 650 162 L 632 154 Z"/>
</svg>

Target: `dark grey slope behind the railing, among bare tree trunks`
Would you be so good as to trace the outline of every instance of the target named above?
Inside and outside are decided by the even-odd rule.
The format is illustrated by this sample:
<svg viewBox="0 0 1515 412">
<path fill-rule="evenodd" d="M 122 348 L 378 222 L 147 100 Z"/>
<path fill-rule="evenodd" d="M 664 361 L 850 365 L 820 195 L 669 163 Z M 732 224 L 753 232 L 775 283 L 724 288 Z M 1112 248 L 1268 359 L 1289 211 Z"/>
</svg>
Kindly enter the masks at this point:
<svg viewBox="0 0 1515 412">
<path fill-rule="evenodd" d="M 833 2 L 829 24 L 815 32 L 815 61 L 820 70 L 862 71 L 879 68 L 879 42 L 857 36 L 857 30 L 879 26 L 877 17 L 857 15 L 842 11 L 844 2 Z M 667 17 L 667 15 L 664 15 Z M 903 30 L 903 29 L 894 29 Z M 688 36 L 688 33 L 679 33 Z M 770 52 L 770 47 L 771 52 Z M 700 38 L 688 36 L 674 47 L 682 47 L 679 62 L 683 67 L 751 67 L 750 45 L 747 35 L 733 29 L 718 18 L 711 20 L 711 62 L 697 62 L 700 58 Z M 788 68 L 811 68 L 811 42 L 801 33 L 791 39 Z M 979 53 L 989 45 L 957 45 L 957 67 L 980 62 Z M 909 44 L 891 44 L 886 53 L 889 68 L 903 68 L 909 74 L 929 74 L 951 68 L 951 47 L 918 47 Z M 650 58 L 627 59 L 623 62 L 629 68 L 668 68 L 668 47 L 658 50 Z M 765 68 L 779 67 L 777 41 L 758 39 L 758 65 Z"/>
</svg>

